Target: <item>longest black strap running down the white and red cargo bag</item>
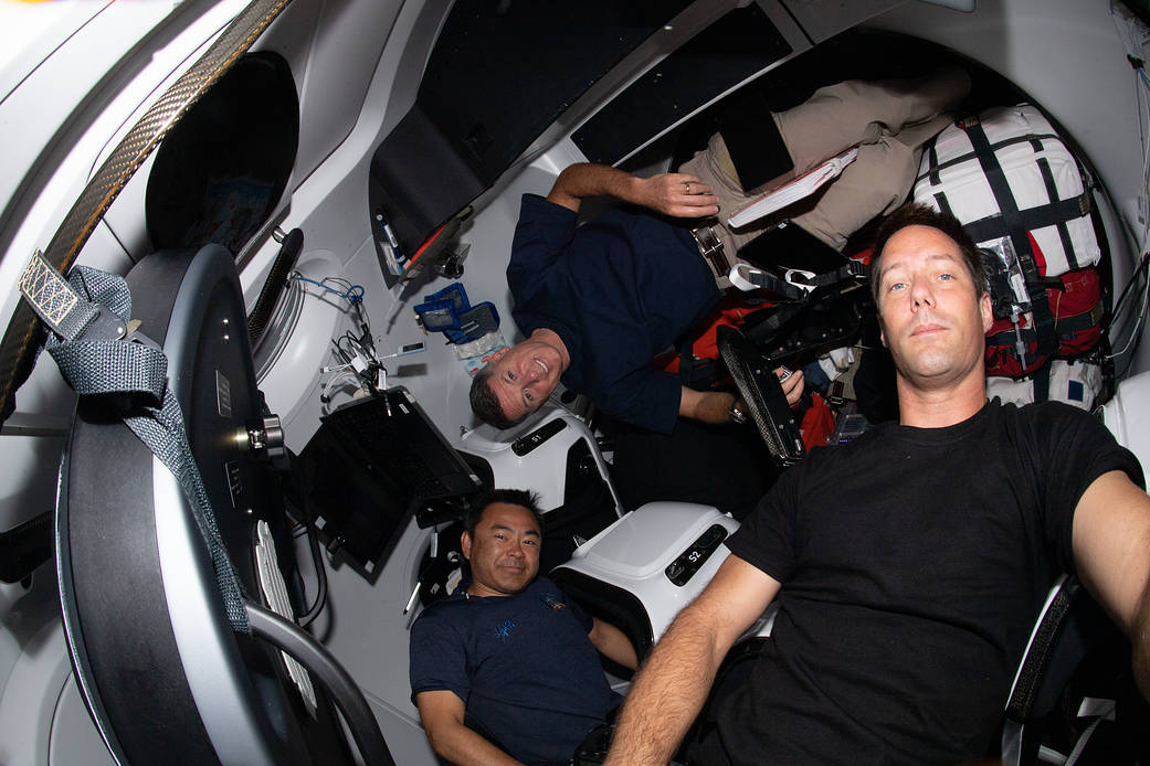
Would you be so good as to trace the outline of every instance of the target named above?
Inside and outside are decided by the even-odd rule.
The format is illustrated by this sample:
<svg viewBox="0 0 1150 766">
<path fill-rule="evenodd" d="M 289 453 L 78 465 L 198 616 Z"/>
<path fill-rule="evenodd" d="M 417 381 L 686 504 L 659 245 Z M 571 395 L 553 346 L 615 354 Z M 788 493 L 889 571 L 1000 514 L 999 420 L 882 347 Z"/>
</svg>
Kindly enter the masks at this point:
<svg viewBox="0 0 1150 766">
<path fill-rule="evenodd" d="M 1010 237 L 1019 264 L 1022 266 L 1022 277 L 1026 280 L 1027 292 L 1030 294 L 1030 307 L 1034 312 L 1034 331 L 1038 340 L 1037 353 L 1045 355 L 1056 354 L 1058 351 L 1058 338 L 1055 335 L 1050 303 L 1045 300 L 1045 283 L 1042 279 L 1042 273 L 1038 271 L 1034 249 L 1030 247 L 1029 227 L 1019 211 L 1018 202 L 1014 200 L 1014 194 L 1006 181 L 1006 175 L 998 163 L 998 157 L 995 155 L 995 150 L 987 139 L 987 133 L 982 129 L 982 124 L 977 121 L 968 119 L 963 122 L 961 126 L 971 139 L 974 156 L 977 158 L 979 165 L 987 177 L 987 183 L 990 185 L 991 192 L 994 192 L 998 209 L 1002 210 L 1004 231 L 999 237 Z M 975 241 L 986 240 L 975 239 Z M 1020 359 L 1020 362 L 1022 366 L 1027 365 L 1027 359 Z"/>
</svg>

